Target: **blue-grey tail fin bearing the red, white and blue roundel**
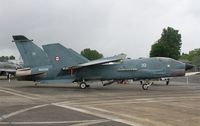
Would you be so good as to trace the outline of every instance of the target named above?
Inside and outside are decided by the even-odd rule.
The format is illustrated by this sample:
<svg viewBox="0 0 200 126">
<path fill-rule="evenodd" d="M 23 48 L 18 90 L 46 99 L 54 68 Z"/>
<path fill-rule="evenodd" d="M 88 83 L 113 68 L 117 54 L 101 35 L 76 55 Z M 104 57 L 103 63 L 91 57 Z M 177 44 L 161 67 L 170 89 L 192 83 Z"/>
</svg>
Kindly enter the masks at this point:
<svg viewBox="0 0 200 126">
<path fill-rule="evenodd" d="M 85 57 L 59 43 L 43 45 L 42 47 L 56 68 L 88 62 Z"/>
</svg>

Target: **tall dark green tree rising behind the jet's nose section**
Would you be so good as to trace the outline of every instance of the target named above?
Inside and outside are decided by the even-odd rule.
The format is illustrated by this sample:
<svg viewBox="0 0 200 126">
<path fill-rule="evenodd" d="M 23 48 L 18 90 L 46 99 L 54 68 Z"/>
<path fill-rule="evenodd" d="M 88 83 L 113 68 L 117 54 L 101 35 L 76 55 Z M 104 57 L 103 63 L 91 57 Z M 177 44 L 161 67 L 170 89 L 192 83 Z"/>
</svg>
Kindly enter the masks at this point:
<svg viewBox="0 0 200 126">
<path fill-rule="evenodd" d="M 151 46 L 150 57 L 170 57 L 179 59 L 181 52 L 181 34 L 168 27 L 163 29 L 161 38 Z"/>
</svg>

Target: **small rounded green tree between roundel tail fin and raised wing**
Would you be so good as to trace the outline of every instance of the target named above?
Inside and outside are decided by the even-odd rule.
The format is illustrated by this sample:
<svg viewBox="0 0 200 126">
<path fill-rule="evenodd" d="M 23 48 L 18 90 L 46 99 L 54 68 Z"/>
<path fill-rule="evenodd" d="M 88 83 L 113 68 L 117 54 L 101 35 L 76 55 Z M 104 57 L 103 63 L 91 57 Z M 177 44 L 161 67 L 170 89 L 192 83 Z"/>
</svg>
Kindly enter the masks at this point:
<svg viewBox="0 0 200 126">
<path fill-rule="evenodd" d="M 103 57 L 101 53 L 96 50 L 91 50 L 90 48 L 86 48 L 81 51 L 81 55 L 86 57 L 89 60 L 96 60 Z"/>
</svg>

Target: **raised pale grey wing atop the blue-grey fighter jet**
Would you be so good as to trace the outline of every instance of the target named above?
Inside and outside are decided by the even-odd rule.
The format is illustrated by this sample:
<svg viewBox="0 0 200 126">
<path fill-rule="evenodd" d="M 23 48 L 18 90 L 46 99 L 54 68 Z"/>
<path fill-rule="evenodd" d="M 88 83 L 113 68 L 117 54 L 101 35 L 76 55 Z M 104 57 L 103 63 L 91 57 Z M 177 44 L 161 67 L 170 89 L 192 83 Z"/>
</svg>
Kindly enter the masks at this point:
<svg viewBox="0 0 200 126">
<path fill-rule="evenodd" d="M 126 58 L 125 54 L 119 54 L 119 55 L 116 55 L 116 56 L 113 56 L 113 57 L 102 58 L 102 59 L 93 60 L 93 61 L 90 61 L 90 62 L 87 62 L 87 63 L 78 64 L 76 66 L 64 67 L 63 70 L 78 69 L 78 68 L 81 68 L 81 67 L 101 65 L 101 64 L 110 63 L 110 62 L 117 62 L 117 61 L 121 61 L 125 58 Z"/>
</svg>

